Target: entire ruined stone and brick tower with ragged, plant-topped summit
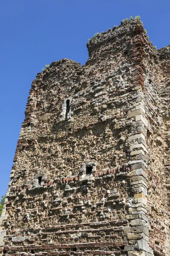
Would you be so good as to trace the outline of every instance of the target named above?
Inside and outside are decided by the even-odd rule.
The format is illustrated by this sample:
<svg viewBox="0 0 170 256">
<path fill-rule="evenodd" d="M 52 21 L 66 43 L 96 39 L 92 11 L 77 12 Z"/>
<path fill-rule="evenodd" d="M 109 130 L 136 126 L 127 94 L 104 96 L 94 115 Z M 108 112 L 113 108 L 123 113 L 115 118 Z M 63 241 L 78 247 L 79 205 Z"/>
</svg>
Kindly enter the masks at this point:
<svg viewBox="0 0 170 256">
<path fill-rule="evenodd" d="M 170 255 L 170 46 L 139 20 L 32 83 L 0 255 Z"/>
</svg>

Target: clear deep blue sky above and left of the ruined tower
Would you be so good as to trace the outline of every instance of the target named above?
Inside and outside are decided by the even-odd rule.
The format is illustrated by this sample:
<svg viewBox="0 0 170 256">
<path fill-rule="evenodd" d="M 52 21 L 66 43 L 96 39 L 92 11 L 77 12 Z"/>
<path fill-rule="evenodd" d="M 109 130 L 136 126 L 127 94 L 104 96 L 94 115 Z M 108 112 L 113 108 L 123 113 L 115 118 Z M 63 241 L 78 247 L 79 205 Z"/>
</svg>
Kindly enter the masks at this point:
<svg viewBox="0 0 170 256">
<path fill-rule="evenodd" d="M 170 0 L 0 1 L 0 196 L 6 193 L 31 82 L 45 64 L 84 64 L 95 32 L 140 15 L 150 41 L 170 44 Z"/>
</svg>

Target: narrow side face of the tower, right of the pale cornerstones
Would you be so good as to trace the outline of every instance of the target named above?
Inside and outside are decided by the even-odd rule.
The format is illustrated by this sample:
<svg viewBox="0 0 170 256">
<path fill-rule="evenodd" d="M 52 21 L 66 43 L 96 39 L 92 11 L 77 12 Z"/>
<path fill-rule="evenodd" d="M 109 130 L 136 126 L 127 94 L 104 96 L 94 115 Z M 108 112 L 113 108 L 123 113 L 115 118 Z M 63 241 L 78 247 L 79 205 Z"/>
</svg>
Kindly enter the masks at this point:
<svg viewBox="0 0 170 256">
<path fill-rule="evenodd" d="M 167 211 L 167 188 L 164 169 L 164 120 L 162 118 L 160 97 L 160 76 L 162 73 L 157 51 L 144 44 L 144 109 L 147 125 L 147 175 L 148 197 L 147 218 L 149 223 L 149 245 L 155 255 L 169 251 L 169 212 Z"/>
</svg>

